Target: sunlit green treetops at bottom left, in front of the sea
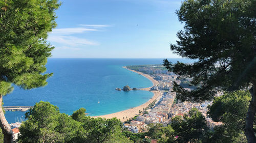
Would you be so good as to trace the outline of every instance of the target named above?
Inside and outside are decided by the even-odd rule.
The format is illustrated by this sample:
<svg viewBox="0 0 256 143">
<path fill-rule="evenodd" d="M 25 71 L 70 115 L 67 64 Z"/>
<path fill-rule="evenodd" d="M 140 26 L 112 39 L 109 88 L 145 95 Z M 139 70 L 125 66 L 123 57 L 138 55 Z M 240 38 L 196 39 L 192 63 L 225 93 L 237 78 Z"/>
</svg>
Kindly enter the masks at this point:
<svg viewBox="0 0 256 143">
<path fill-rule="evenodd" d="M 27 121 L 20 127 L 18 142 L 131 142 L 121 133 L 120 120 L 94 119 L 84 111 L 80 108 L 69 117 L 49 102 L 36 103 L 26 113 Z"/>
</svg>

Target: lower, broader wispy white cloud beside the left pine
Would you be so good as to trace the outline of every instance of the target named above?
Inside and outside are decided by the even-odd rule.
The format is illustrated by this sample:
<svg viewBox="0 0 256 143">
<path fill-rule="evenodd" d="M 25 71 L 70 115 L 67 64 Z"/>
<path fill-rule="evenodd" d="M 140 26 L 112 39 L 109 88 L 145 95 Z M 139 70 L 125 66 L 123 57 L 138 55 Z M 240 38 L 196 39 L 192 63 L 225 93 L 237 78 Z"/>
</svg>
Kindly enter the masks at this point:
<svg viewBox="0 0 256 143">
<path fill-rule="evenodd" d="M 59 35 L 50 35 L 48 37 L 49 41 L 59 43 L 61 45 L 69 46 L 87 46 L 87 45 L 99 45 L 98 42 L 87 40 L 84 38 L 77 38 L 74 36 L 59 36 Z"/>
</svg>

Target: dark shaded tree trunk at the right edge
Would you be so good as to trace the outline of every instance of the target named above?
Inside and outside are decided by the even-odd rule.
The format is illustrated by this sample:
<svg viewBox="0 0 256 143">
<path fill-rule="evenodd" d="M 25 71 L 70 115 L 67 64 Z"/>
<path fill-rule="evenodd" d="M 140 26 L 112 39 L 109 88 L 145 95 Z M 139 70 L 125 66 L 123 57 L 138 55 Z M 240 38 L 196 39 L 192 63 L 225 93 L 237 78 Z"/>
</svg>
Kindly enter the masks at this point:
<svg viewBox="0 0 256 143">
<path fill-rule="evenodd" d="M 256 82 L 253 82 L 252 87 L 249 91 L 252 98 L 246 115 L 245 136 L 248 143 L 255 143 L 256 137 L 253 131 L 253 121 L 256 112 Z"/>
</svg>

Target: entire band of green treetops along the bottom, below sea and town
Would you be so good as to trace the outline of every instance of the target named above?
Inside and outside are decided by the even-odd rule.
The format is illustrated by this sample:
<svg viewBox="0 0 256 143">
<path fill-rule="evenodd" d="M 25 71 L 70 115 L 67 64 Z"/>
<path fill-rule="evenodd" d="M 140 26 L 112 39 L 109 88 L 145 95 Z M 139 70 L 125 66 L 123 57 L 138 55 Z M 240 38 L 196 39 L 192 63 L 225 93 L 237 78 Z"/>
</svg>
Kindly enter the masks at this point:
<svg viewBox="0 0 256 143">
<path fill-rule="evenodd" d="M 172 122 L 148 125 L 144 133 L 132 133 L 122 129 L 120 120 L 91 118 L 86 116 L 86 109 L 80 108 L 71 116 L 60 113 L 58 107 L 49 102 L 36 103 L 25 115 L 20 127 L 18 142 L 151 142 L 157 139 L 160 143 L 214 143 L 214 142 L 247 142 L 244 126 L 248 100 L 248 91 L 226 92 L 216 97 L 209 106 L 208 115 L 216 122 L 222 122 L 213 130 L 207 127 L 206 119 L 197 108 L 192 108 L 183 117 L 176 116 Z M 256 119 L 254 120 L 254 125 Z M 255 128 L 254 128 L 255 129 Z M 145 138 L 148 136 L 150 138 Z"/>
</svg>

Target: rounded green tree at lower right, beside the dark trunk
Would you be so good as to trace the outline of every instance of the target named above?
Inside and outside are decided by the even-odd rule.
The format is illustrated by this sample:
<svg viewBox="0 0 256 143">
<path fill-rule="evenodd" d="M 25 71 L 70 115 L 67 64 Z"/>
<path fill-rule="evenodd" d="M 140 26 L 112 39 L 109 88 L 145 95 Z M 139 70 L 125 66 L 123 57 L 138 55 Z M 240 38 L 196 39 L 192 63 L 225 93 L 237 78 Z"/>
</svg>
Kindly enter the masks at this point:
<svg viewBox="0 0 256 143">
<path fill-rule="evenodd" d="M 247 142 L 244 128 L 250 99 L 248 91 L 226 92 L 214 99 L 214 103 L 208 107 L 208 114 L 212 120 L 223 125 L 214 129 L 211 142 Z"/>
</svg>

